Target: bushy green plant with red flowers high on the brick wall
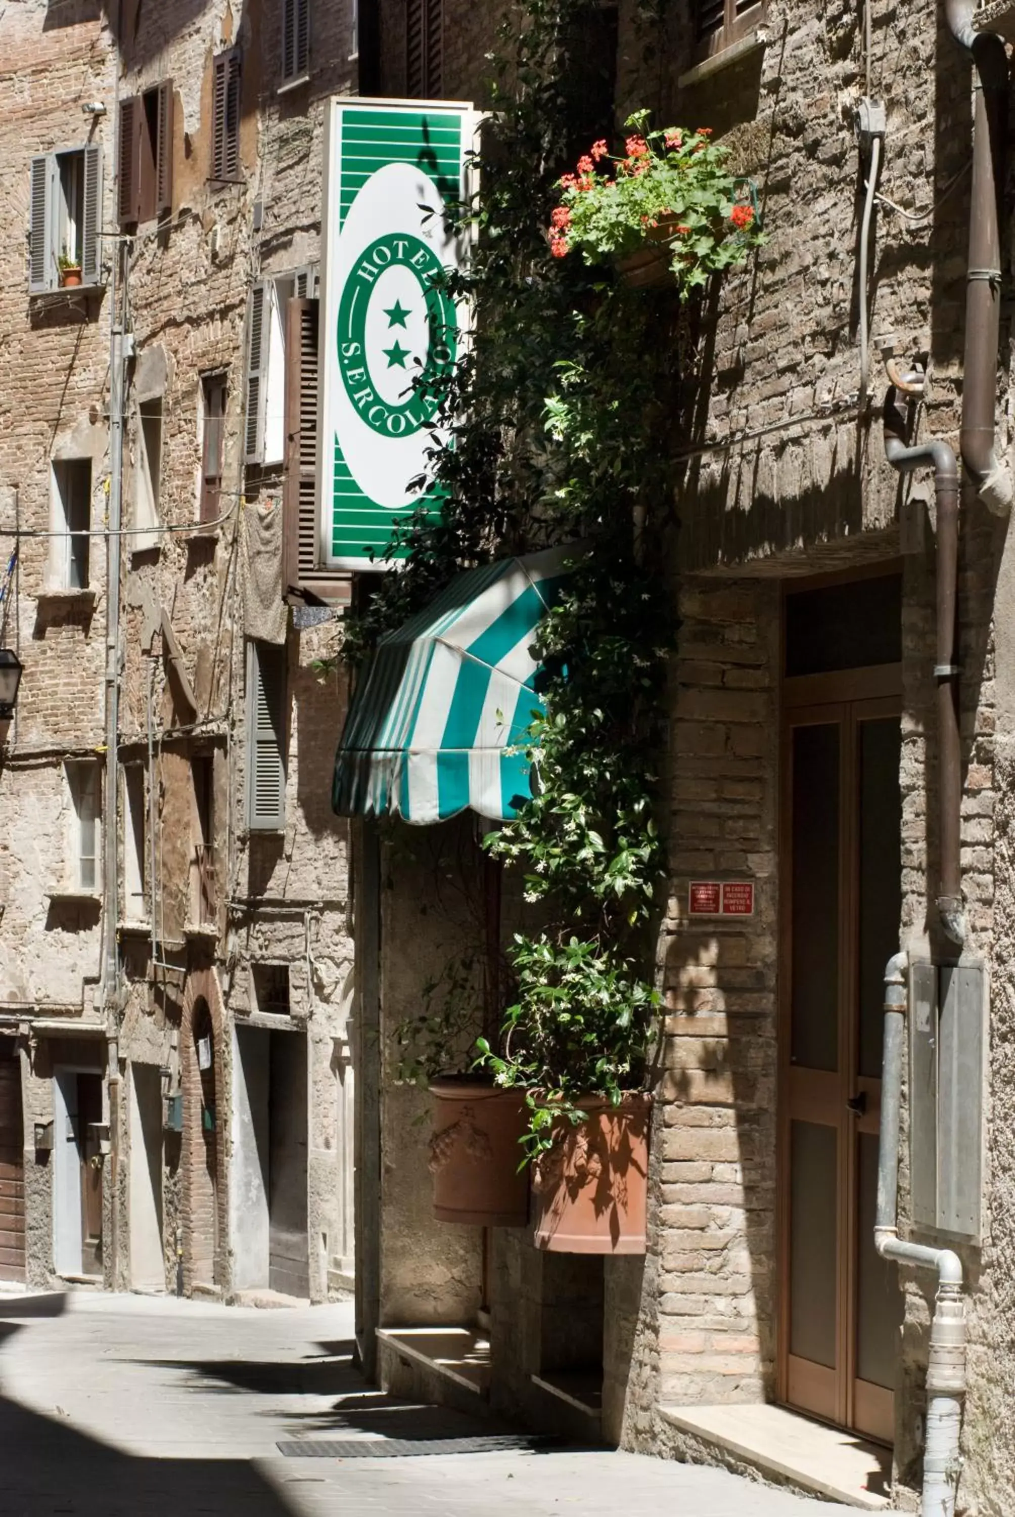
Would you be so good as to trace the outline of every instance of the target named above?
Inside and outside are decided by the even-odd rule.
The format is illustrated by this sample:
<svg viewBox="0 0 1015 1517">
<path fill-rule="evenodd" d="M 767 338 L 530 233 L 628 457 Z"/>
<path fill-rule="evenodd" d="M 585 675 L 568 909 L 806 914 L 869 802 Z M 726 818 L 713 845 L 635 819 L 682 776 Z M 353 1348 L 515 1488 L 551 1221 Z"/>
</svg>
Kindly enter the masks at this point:
<svg viewBox="0 0 1015 1517">
<path fill-rule="evenodd" d="M 611 261 L 631 288 L 675 282 L 684 294 L 745 262 L 765 235 L 749 181 L 728 171 L 710 127 L 648 132 L 646 121 L 646 111 L 628 118 L 624 156 L 598 141 L 563 176 L 551 252 Z"/>
</svg>

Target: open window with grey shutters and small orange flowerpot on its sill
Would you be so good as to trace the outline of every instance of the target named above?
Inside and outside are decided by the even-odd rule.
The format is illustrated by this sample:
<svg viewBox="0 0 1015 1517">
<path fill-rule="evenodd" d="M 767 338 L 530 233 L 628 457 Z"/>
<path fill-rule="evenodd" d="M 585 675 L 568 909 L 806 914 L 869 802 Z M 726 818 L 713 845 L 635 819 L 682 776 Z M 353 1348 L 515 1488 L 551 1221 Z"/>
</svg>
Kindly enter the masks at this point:
<svg viewBox="0 0 1015 1517">
<path fill-rule="evenodd" d="M 102 279 L 102 149 L 32 159 L 29 293 Z"/>
</svg>

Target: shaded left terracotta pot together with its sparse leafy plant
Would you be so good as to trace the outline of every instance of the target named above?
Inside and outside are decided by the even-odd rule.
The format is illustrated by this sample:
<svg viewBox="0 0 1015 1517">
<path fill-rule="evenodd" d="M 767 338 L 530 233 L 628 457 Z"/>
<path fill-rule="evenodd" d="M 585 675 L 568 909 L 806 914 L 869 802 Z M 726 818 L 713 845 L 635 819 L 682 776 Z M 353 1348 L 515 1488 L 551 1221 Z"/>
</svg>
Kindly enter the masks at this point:
<svg viewBox="0 0 1015 1517">
<path fill-rule="evenodd" d="M 522 1092 L 499 1089 L 475 1069 L 484 1025 L 476 980 L 476 960 L 464 953 L 423 986 L 422 1010 L 396 1030 L 398 1074 L 431 1094 L 428 1167 L 437 1221 L 522 1227 L 526 1107 Z"/>
</svg>

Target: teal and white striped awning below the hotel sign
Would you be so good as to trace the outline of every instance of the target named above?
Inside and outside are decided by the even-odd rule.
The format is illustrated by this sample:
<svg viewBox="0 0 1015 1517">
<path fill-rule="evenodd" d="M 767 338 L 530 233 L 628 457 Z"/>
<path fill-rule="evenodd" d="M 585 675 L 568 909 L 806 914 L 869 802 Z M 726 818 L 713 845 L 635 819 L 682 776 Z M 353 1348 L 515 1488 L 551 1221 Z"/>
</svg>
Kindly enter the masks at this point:
<svg viewBox="0 0 1015 1517">
<path fill-rule="evenodd" d="M 531 795 L 525 731 L 536 628 L 575 549 L 554 548 L 458 575 L 381 640 L 352 698 L 335 755 L 340 816 L 438 822 L 472 807 L 514 816 Z"/>
</svg>

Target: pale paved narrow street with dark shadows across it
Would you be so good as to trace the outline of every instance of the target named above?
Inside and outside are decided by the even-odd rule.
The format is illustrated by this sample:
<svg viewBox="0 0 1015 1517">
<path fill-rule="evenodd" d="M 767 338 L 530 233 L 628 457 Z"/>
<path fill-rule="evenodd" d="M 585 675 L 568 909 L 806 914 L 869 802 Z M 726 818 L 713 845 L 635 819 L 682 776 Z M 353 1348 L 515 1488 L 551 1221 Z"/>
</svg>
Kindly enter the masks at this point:
<svg viewBox="0 0 1015 1517">
<path fill-rule="evenodd" d="M 284 1456 L 279 1443 L 501 1431 L 364 1387 L 344 1303 L 259 1311 L 77 1292 L 61 1315 L 15 1311 L 8 1300 L 0 1323 L 3 1517 L 845 1509 L 719 1470 L 593 1449 Z"/>
</svg>

